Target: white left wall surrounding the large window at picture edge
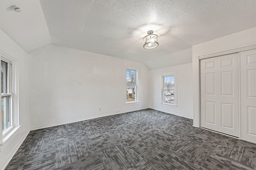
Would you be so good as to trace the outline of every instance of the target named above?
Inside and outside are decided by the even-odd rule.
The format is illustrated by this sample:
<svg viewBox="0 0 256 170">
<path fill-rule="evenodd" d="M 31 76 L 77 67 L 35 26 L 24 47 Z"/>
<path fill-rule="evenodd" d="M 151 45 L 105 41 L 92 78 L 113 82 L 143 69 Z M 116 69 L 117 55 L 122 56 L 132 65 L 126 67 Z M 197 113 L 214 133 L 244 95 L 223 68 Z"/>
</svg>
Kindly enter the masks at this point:
<svg viewBox="0 0 256 170">
<path fill-rule="evenodd" d="M 18 115 L 20 127 L 0 147 L 0 169 L 4 169 L 30 131 L 29 126 L 29 67 L 28 53 L 0 29 L 0 50 L 18 63 Z M 2 122 L 2 121 L 1 121 Z M 2 125 L 1 125 L 2 134 Z M 0 136 L 1 141 L 2 135 Z"/>
</svg>

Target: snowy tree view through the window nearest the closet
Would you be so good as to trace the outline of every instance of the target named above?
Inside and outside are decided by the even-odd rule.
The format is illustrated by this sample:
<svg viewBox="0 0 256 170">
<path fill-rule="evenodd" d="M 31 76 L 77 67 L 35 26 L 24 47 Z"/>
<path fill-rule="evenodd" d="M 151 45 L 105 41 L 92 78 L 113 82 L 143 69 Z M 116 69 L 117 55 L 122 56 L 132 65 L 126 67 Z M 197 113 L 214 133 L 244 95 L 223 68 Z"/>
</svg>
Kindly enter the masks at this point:
<svg viewBox="0 0 256 170">
<path fill-rule="evenodd" d="M 174 75 L 164 76 L 164 102 L 174 104 Z"/>
</svg>

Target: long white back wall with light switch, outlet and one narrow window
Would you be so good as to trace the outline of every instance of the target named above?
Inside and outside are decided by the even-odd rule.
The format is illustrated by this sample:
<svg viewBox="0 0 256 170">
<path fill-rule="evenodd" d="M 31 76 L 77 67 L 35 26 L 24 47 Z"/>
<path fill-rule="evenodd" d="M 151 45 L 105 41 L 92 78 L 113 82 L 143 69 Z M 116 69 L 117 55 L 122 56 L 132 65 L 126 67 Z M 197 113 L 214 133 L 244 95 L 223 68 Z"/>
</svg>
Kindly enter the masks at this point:
<svg viewBox="0 0 256 170">
<path fill-rule="evenodd" d="M 138 104 L 124 104 L 125 67 L 138 68 Z M 144 108 L 148 69 L 141 62 L 58 46 L 30 55 L 31 129 Z"/>
</svg>

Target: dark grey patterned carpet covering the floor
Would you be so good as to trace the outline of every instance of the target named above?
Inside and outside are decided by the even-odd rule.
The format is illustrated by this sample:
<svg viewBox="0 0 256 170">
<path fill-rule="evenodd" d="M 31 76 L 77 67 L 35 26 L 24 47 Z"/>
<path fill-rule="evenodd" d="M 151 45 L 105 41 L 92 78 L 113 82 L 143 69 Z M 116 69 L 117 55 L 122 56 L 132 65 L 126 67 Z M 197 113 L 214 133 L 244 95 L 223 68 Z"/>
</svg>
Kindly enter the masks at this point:
<svg viewBox="0 0 256 170">
<path fill-rule="evenodd" d="M 31 131 L 6 170 L 256 170 L 256 145 L 153 109 Z"/>
</svg>

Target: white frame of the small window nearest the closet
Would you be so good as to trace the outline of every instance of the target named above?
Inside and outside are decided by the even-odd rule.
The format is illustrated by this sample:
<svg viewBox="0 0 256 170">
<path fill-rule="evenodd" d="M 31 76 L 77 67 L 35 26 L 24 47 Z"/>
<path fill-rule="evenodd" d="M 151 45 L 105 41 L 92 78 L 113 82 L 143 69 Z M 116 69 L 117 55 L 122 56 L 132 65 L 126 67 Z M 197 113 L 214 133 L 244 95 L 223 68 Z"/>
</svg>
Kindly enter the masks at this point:
<svg viewBox="0 0 256 170">
<path fill-rule="evenodd" d="M 164 102 L 164 90 L 172 90 L 172 89 L 166 89 L 164 88 L 164 77 L 166 76 L 174 76 L 174 104 Z M 166 104 L 170 106 L 178 106 L 178 100 L 177 100 L 177 93 L 178 93 L 178 86 L 177 86 L 177 72 L 168 72 L 161 75 L 161 104 Z"/>
</svg>

